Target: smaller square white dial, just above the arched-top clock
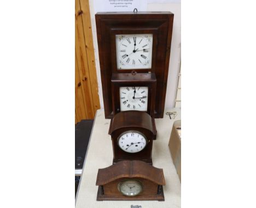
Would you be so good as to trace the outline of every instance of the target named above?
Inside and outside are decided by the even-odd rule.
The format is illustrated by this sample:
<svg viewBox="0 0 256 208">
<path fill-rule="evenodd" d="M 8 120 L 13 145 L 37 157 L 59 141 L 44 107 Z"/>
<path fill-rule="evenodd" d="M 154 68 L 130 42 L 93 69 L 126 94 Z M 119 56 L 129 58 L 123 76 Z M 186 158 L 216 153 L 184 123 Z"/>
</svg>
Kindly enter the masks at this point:
<svg viewBox="0 0 256 208">
<path fill-rule="evenodd" d="M 147 111 L 148 87 L 120 87 L 121 111 Z"/>
</svg>

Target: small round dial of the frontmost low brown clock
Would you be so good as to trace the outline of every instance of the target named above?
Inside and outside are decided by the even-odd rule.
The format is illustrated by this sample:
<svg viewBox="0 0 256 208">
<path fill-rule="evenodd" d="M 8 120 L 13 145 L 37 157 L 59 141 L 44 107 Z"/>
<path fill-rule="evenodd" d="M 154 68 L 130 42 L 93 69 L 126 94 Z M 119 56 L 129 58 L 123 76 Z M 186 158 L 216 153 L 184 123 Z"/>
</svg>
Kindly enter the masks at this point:
<svg viewBox="0 0 256 208">
<path fill-rule="evenodd" d="M 128 197 L 132 197 L 142 192 L 142 184 L 136 180 L 127 180 L 118 184 L 118 190 Z"/>
</svg>

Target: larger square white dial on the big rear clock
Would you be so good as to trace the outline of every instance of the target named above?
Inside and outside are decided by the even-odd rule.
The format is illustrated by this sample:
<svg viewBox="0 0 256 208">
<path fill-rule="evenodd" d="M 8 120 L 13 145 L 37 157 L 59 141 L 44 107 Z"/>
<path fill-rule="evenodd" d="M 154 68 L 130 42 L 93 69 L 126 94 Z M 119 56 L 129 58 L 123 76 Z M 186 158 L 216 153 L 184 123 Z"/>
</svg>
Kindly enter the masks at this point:
<svg viewBox="0 0 256 208">
<path fill-rule="evenodd" d="M 117 68 L 150 69 L 153 34 L 115 35 Z"/>
</svg>

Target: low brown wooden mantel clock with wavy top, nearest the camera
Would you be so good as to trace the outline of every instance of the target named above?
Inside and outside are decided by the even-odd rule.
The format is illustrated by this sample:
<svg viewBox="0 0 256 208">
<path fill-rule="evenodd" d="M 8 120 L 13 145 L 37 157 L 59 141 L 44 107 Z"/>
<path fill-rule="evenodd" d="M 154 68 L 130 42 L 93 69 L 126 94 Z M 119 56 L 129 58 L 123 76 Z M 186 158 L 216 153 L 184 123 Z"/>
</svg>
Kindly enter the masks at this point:
<svg viewBox="0 0 256 208">
<path fill-rule="evenodd" d="M 142 161 L 121 161 L 98 169 L 97 200 L 164 201 L 165 178 L 162 169 Z"/>
</svg>

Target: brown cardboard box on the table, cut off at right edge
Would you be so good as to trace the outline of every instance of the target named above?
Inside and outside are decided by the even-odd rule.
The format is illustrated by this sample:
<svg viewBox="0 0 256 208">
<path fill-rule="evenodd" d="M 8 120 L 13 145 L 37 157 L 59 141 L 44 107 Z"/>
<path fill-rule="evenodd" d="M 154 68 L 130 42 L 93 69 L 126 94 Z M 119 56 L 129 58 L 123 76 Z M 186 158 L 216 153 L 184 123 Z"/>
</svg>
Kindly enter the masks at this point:
<svg viewBox="0 0 256 208">
<path fill-rule="evenodd" d="M 174 121 L 168 146 L 179 181 L 181 181 L 181 120 Z"/>
</svg>

